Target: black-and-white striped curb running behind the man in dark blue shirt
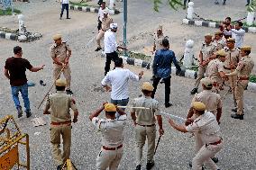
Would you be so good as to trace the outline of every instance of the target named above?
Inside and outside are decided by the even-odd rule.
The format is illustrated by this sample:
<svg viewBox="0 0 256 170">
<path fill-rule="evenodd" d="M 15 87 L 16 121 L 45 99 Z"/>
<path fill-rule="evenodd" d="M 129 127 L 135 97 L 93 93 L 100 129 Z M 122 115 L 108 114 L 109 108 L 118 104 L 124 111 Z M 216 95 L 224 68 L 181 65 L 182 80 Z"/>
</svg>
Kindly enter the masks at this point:
<svg viewBox="0 0 256 170">
<path fill-rule="evenodd" d="M 123 58 L 124 64 L 151 69 L 151 63 L 146 62 L 142 59 L 128 58 L 128 57 L 123 57 L 123 56 L 120 56 L 120 58 Z M 171 74 L 176 75 L 176 76 L 184 76 L 187 78 L 197 79 L 197 71 L 190 70 L 185 67 L 181 67 L 181 72 L 179 73 L 179 75 L 177 74 L 176 67 L 171 67 Z M 249 82 L 247 89 L 251 90 L 253 92 L 256 92 L 256 83 Z"/>
</svg>

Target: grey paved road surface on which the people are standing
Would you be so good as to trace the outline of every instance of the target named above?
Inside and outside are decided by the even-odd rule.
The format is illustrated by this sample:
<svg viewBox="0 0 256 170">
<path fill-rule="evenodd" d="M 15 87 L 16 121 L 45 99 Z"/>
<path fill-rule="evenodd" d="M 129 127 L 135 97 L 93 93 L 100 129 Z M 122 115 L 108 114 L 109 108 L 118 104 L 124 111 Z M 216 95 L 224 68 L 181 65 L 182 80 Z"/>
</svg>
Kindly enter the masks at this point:
<svg viewBox="0 0 256 170">
<path fill-rule="evenodd" d="M 243 7 L 241 7 L 243 6 L 243 2 L 238 0 L 233 0 L 233 2 L 235 3 L 231 4 L 233 5 L 231 9 L 228 6 L 220 6 L 219 9 L 222 10 L 220 11 L 219 9 L 215 9 L 214 5 L 208 4 L 207 1 L 195 1 L 195 3 L 198 3 L 197 10 L 200 10 L 203 15 L 210 17 L 215 14 L 220 19 L 226 15 L 223 12 L 224 9 L 228 9 L 228 12 L 234 14 L 237 18 L 244 15 L 242 12 Z M 42 3 L 41 1 L 33 1 L 31 4 L 19 5 L 27 16 L 29 30 L 40 31 L 43 34 L 43 38 L 30 43 L 18 43 L 0 39 L 0 67 L 4 67 L 5 58 L 13 55 L 12 49 L 15 45 L 21 45 L 23 47 L 24 58 L 28 58 L 33 65 L 46 64 L 45 69 L 39 73 L 27 73 L 30 81 L 36 83 L 35 87 L 30 88 L 32 114 L 37 117 L 42 116 L 42 109 L 37 110 L 36 107 L 52 83 L 51 60 L 49 56 L 50 37 L 55 32 L 64 34 L 65 40 L 69 40 L 69 44 L 73 49 L 70 61 L 72 69 L 72 90 L 75 93 L 74 96 L 77 99 L 80 112 L 79 121 L 73 125 L 72 129 L 71 159 L 79 170 L 95 169 L 96 155 L 100 149 L 100 134 L 96 132 L 91 122 L 88 121 L 88 115 L 99 107 L 101 103 L 109 100 L 109 94 L 100 88 L 100 81 L 104 76 L 105 59 L 100 58 L 100 53 L 94 52 L 95 47 L 93 44 L 89 45 L 87 49 L 85 48 L 87 41 L 95 36 L 95 33 L 92 32 L 96 30 L 96 14 L 72 12 L 72 19 L 70 21 L 59 21 L 59 8 L 54 2 L 47 1 Z M 193 40 L 198 42 L 197 49 L 202 39 L 202 33 L 215 31 L 214 29 L 209 30 L 206 28 L 180 25 L 180 21 L 185 13 L 184 11 L 173 12 L 169 11 L 168 7 L 163 7 L 160 13 L 155 13 L 151 11 L 151 4 L 146 0 L 129 1 L 128 10 L 128 38 L 132 39 L 134 36 L 142 37 L 142 40 L 131 40 L 129 49 L 140 50 L 143 46 L 149 45 L 149 40 L 151 39 L 149 38 L 149 34 L 157 28 L 159 23 L 164 24 L 164 28 L 172 40 L 171 48 L 175 49 L 177 53 L 182 52 L 182 46 L 186 40 L 193 38 Z M 208 13 L 207 10 L 211 13 Z M 219 11 L 220 13 L 216 13 Z M 115 15 L 114 21 L 122 25 L 122 15 Z M 0 18 L 0 22 L 8 27 L 14 26 L 15 24 L 13 17 Z M 119 40 L 122 40 L 121 31 L 117 33 L 117 37 Z M 246 40 L 253 39 L 255 40 L 255 35 L 246 35 Z M 252 41 L 249 41 L 249 44 L 252 44 Z M 139 67 L 125 67 L 130 68 L 135 73 L 139 73 L 141 70 Z M 150 77 L 151 71 L 145 71 L 145 76 L 143 76 L 141 82 L 130 83 L 131 99 L 140 94 L 140 85 L 143 81 L 149 81 Z M 4 117 L 6 114 L 13 114 L 16 117 L 8 81 L 2 74 L 0 74 L 0 79 L 2 80 L 0 86 L 0 109 L 2 112 L 0 113 L 0 117 Z M 39 85 L 41 79 L 47 83 L 47 86 L 43 87 Z M 185 117 L 193 97 L 189 95 L 193 83 L 194 80 L 184 77 L 173 76 L 171 78 L 171 102 L 174 105 L 169 109 L 163 107 L 164 86 L 160 85 L 156 98 L 160 101 L 161 110 Z M 220 159 L 218 165 L 225 170 L 256 169 L 255 94 L 251 92 L 245 92 L 245 94 L 248 109 L 245 109 L 244 121 L 236 121 L 230 118 L 230 114 L 232 113 L 230 110 L 232 109 L 233 103 L 232 96 L 228 95 L 224 100 L 224 113 L 221 123 L 224 149 L 217 156 Z M 253 107 L 251 108 L 250 106 Z M 48 116 L 42 117 L 48 121 L 48 125 L 39 128 L 33 128 L 30 119 L 23 118 L 17 121 L 23 132 L 30 135 L 32 170 L 50 170 L 55 168 L 50 153 L 50 119 Z M 189 138 L 189 135 L 171 129 L 167 118 L 164 119 L 164 129 L 165 136 L 160 142 L 160 147 L 155 157 L 156 166 L 154 169 L 190 169 L 187 166 L 187 162 L 194 155 L 193 138 Z M 40 135 L 37 135 L 36 132 L 40 132 Z M 124 154 L 120 169 L 134 169 L 134 146 L 134 128 L 129 117 L 124 131 Z"/>
</svg>

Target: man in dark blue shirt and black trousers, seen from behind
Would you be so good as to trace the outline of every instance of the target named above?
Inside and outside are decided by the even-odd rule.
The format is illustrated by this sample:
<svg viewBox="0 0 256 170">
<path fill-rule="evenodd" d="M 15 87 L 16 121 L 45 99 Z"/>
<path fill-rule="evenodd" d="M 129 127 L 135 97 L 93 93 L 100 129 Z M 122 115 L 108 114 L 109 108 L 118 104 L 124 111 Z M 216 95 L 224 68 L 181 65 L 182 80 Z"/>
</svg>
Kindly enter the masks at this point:
<svg viewBox="0 0 256 170">
<path fill-rule="evenodd" d="M 175 53 L 172 50 L 169 50 L 169 40 L 162 40 L 162 47 L 163 49 L 157 50 L 153 61 L 152 68 L 155 78 L 153 79 L 154 90 L 151 94 L 151 97 L 154 98 L 157 86 L 159 85 L 160 79 L 162 78 L 165 84 L 165 107 L 169 107 L 172 105 L 169 103 L 171 63 L 173 62 L 177 68 L 177 74 L 179 74 L 181 68 L 178 66 Z"/>
</svg>

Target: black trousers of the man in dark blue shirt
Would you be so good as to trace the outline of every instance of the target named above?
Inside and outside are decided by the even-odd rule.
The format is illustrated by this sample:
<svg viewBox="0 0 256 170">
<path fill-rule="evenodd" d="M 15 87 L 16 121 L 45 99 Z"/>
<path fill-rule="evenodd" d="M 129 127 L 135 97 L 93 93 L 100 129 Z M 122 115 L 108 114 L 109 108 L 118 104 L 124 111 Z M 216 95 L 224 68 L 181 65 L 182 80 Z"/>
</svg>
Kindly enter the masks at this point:
<svg viewBox="0 0 256 170">
<path fill-rule="evenodd" d="M 170 94 L 170 77 L 167 77 L 167 78 L 163 78 L 163 81 L 164 81 L 164 85 L 165 85 L 165 103 L 169 103 L 169 94 Z M 151 97 L 154 98 L 155 94 L 156 94 L 156 91 L 157 91 L 157 87 L 160 83 L 160 79 L 161 77 L 155 77 L 153 79 L 153 86 L 154 86 L 154 90 L 151 94 Z"/>
</svg>

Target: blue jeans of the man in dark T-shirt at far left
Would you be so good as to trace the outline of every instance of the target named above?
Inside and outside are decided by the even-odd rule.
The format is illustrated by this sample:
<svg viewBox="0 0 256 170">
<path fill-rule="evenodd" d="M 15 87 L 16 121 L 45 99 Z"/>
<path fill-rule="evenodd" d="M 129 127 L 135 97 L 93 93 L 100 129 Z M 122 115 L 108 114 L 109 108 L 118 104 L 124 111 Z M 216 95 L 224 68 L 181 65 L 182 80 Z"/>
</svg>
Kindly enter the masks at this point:
<svg viewBox="0 0 256 170">
<path fill-rule="evenodd" d="M 23 96 L 24 107 L 26 108 L 25 112 L 30 112 L 31 108 L 30 108 L 28 84 L 21 85 L 21 86 L 11 86 L 11 88 L 12 88 L 12 95 L 13 95 L 16 109 L 22 107 L 19 100 L 19 92 L 21 92 Z"/>
</svg>

